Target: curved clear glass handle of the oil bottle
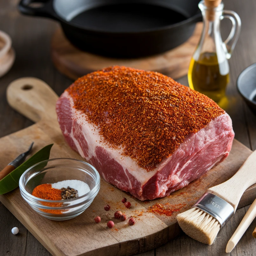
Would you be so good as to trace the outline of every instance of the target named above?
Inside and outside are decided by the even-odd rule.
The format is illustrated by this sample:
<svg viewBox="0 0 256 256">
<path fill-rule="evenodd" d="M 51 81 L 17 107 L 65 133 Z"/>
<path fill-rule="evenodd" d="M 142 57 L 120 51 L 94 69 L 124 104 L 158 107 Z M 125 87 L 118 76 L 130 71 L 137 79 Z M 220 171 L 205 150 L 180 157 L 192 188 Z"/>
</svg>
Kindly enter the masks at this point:
<svg viewBox="0 0 256 256">
<path fill-rule="evenodd" d="M 223 10 L 222 16 L 220 20 L 224 18 L 228 18 L 232 22 L 232 29 L 229 33 L 229 36 L 223 43 L 223 48 L 226 53 L 226 58 L 230 59 L 232 52 L 235 48 L 237 40 L 239 38 L 240 30 L 241 30 L 241 19 L 239 15 L 234 11 Z"/>
</svg>

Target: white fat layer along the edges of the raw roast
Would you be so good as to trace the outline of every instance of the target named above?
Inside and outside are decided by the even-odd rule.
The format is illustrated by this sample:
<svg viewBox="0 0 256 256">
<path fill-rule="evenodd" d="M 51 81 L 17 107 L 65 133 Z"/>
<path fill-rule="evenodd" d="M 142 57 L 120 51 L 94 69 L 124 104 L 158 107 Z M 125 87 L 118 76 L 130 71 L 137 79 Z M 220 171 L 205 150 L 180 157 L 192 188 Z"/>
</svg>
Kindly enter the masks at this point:
<svg viewBox="0 0 256 256">
<path fill-rule="evenodd" d="M 77 110 L 73 107 L 74 103 L 73 103 L 72 97 L 66 91 L 63 93 L 62 96 L 69 99 L 70 104 L 71 104 L 71 109 L 73 111 L 73 116 L 78 117 L 76 119 L 76 121 L 81 126 L 84 138 L 85 138 L 86 142 L 88 143 L 88 157 L 84 157 L 84 154 L 83 154 L 83 151 L 80 147 L 80 144 L 74 138 L 73 134 L 71 135 L 71 138 L 73 139 L 73 141 L 74 141 L 77 149 L 79 150 L 79 153 L 81 154 L 81 156 L 83 156 L 87 161 L 89 161 L 92 156 L 94 156 L 94 157 L 96 156 L 96 152 L 95 152 L 96 147 L 102 147 L 103 149 L 105 149 L 107 151 L 110 158 L 113 158 L 117 163 L 119 163 L 123 167 L 124 172 L 125 172 L 126 175 L 127 175 L 127 173 L 126 173 L 126 169 L 127 169 L 128 172 L 131 175 L 133 175 L 142 185 L 144 185 L 152 176 L 154 176 L 159 170 L 161 170 L 166 164 L 168 164 L 169 161 L 171 161 L 173 155 L 168 157 L 168 158 L 163 159 L 161 163 L 156 165 L 156 168 L 154 170 L 147 172 L 147 170 L 139 167 L 133 159 L 131 159 L 128 156 L 123 156 L 121 154 L 122 149 L 113 149 L 113 148 L 110 148 L 107 145 L 107 143 L 104 143 L 104 139 L 98 133 L 98 128 L 95 125 L 89 123 L 86 120 L 86 114 L 84 114 L 80 110 Z M 225 113 L 223 115 L 227 115 L 227 114 Z M 202 137 L 205 133 L 205 129 L 208 129 L 208 128 L 211 129 L 211 127 L 215 125 L 214 123 L 219 121 L 218 120 L 219 118 L 223 118 L 223 115 L 218 116 L 217 118 L 212 120 L 205 128 L 198 131 L 194 136 Z M 194 138 L 193 138 L 194 136 L 192 135 L 189 138 L 187 138 L 180 145 L 179 149 L 183 149 L 185 151 L 186 147 L 191 142 L 191 139 L 194 140 Z M 205 144 L 204 145 L 203 144 L 204 143 L 202 143 L 202 148 L 205 146 Z M 185 165 L 187 165 L 189 163 L 190 163 L 190 161 L 188 161 Z M 183 166 L 183 168 L 185 168 L 185 165 Z M 177 168 L 178 168 L 178 164 L 175 167 L 175 171 L 176 171 Z M 209 170 L 209 169 L 211 169 L 211 167 L 208 168 L 207 170 Z M 174 177 L 175 177 L 175 179 L 177 179 L 177 181 L 181 181 L 183 179 L 183 177 L 179 177 L 180 171 L 179 171 L 179 173 L 176 173 L 176 174 L 175 174 L 175 171 L 172 173 L 172 179 L 174 179 Z M 175 174 L 175 176 L 173 176 L 174 174 Z M 104 175 L 104 174 L 102 174 L 102 175 Z M 103 177 L 103 178 L 106 179 L 105 177 Z M 164 185 L 165 188 L 163 188 L 163 190 L 167 190 L 167 185 L 168 184 L 166 183 Z"/>
</svg>

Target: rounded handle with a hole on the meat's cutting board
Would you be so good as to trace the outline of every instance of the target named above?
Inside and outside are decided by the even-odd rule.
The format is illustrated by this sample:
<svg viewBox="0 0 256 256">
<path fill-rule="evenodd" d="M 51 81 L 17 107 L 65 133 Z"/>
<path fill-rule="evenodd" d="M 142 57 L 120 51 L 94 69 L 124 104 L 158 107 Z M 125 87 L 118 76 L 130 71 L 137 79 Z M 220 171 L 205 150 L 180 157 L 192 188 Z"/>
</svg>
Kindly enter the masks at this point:
<svg viewBox="0 0 256 256">
<path fill-rule="evenodd" d="M 30 120 L 56 120 L 57 94 L 44 81 L 34 77 L 14 80 L 7 88 L 6 97 L 11 107 Z"/>
</svg>

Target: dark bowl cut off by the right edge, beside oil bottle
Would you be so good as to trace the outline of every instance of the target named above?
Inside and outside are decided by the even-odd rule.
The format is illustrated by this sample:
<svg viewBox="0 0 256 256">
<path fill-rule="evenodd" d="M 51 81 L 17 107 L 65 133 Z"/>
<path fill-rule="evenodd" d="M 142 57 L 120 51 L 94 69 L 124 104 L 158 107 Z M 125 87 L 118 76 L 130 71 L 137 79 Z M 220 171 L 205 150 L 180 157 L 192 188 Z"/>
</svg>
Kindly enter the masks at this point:
<svg viewBox="0 0 256 256">
<path fill-rule="evenodd" d="M 241 72 L 237 79 L 237 88 L 247 105 L 256 114 L 256 63 Z"/>
</svg>

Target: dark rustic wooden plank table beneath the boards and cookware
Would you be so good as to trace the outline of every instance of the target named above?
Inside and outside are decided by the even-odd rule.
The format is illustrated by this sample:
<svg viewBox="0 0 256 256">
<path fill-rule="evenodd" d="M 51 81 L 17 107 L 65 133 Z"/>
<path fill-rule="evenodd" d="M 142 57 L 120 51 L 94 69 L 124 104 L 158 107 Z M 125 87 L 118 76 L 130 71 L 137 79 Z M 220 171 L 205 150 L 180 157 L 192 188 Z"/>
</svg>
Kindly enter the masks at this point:
<svg viewBox="0 0 256 256">
<path fill-rule="evenodd" d="M 31 121 L 11 109 L 6 101 L 8 84 L 17 78 L 33 76 L 52 86 L 57 94 L 71 84 L 61 75 L 50 58 L 50 41 L 57 24 L 43 18 L 25 17 L 17 11 L 17 0 L 0 0 L 0 30 L 6 31 L 13 40 L 16 61 L 11 71 L 0 78 L 0 136 L 8 135 L 32 124 Z M 224 0 L 225 9 L 236 11 L 242 20 L 242 30 L 235 51 L 230 59 L 230 85 L 227 89 L 229 105 L 225 110 L 233 121 L 235 137 L 248 148 L 256 149 L 256 115 L 246 106 L 236 89 L 239 73 L 256 62 L 256 2 L 252 0 Z M 228 21 L 222 22 L 225 36 L 230 29 Z M 187 85 L 187 78 L 179 79 Z M 212 246 L 201 244 L 185 234 L 169 243 L 140 254 L 141 256 L 164 255 L 226 255 L 225 246 L 239 225 L 249 206 L 239 209 L 218 234 Z M 252 237 L 256 220 L 248 228 L 230 255 L 256 255 L 256 239 Z M 0 203 L 0 255 L 51 255 L 26 228 Z M 11 233 L 12 227 L 19 234 Z"/>
</svg>

